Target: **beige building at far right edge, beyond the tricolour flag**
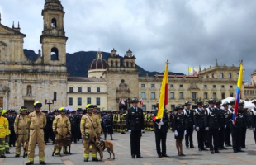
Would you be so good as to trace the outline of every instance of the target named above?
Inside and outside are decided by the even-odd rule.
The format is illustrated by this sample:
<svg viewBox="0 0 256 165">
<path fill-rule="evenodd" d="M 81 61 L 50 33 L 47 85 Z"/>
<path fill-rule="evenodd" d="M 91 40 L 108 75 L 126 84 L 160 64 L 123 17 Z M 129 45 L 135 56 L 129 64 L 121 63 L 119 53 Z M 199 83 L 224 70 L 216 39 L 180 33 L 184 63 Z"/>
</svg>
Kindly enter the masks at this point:
<svg viewBox="0 0 256 165">
<path fill-rule="evenodd" d="M 251 74 L 251 83 L 244 85 L 244 96 L 246 101 L 256 99 L 256 70 Z"/>
</svg>

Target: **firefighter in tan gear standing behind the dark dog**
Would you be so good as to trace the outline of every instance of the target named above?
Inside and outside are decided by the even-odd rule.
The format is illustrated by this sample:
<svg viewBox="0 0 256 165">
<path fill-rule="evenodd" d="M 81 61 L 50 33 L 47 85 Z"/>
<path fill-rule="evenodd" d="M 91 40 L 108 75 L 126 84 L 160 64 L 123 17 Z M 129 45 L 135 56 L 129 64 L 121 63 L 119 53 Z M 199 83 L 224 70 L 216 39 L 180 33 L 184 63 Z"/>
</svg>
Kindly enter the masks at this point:
<svg viewBox="0 0 256 165">
<path fill-rule="evenodd" d="M 53 123 L 53 131 L 56 134 L 55 141 L 58 139 L 64 139 L 66 138 L 67 134 L 71 134 L 71 125 L 69 118 L 66 116 L 67 110 L 64 109 L 64 107 L 59 108 L 60 115 L 57 115 L 55 117 L 54 123 Z M 58 140 L 59 141 L 59 140 Z M 55 155 L 59 155 L 61 151 L 61 146 L 59 144 L 56 144 L 57 149 L 55 152 Z M 64 154 L 67 154 L 67 148 L 64 148 L 63 150 Z"/>
</svg>

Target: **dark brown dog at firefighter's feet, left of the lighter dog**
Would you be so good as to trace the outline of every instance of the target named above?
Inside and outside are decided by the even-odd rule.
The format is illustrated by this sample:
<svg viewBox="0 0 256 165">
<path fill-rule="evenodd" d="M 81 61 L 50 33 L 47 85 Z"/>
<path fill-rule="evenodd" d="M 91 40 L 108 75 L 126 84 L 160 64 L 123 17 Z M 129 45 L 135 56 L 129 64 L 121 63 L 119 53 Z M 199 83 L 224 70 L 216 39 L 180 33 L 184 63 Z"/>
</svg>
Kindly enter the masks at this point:
<svg viewBox="0 0 256 165">
<path fill-rule="evenodd" d="M 64 148 L 67 148 L 69 147 L 69 152 L 67 153 L 64 153 L 64 154 L 71 154 L 70 153 L 70 149 L 71 149 L 71 144 L 72 144 L 72 139 L 71 139 L 71 134 L 68 134 L 67 137 L 65 138 L 62 138 L 62 139 L 55 139 L 55 148 L 54 148 L 54 151 L 52 153 L 52 156 L 55 155 L 55 152 L 56 152 L 56 149 L 59 147 L 59 156 L 61 157 L 61 148 L 64 147 Z"/>
</svg>

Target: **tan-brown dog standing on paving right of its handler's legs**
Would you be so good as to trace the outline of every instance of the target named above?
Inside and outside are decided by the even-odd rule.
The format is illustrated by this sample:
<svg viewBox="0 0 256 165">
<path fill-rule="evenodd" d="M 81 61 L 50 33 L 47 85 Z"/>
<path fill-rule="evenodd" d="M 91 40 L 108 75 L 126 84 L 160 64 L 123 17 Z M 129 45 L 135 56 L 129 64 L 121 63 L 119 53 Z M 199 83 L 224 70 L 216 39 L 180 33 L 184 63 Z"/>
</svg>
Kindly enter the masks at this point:
<svg viewBox="0 0 256 165">
<path fill-rule="evenodd" d="M 100 160 L 102 161 L 103 159 L 103 151 L 104 149 L 107 148 L 107 152 L 109 153 L 109 158 L 107 159 L 110 159 L 111 158 L 111 153 L 113 154 L 113 159 L 115 159 L 115 153 L 114 153 L 114 147 L 113 147 L 113 144 L 112 142 L 110 141 L 101 141 L 99 145 L 97 145 L 97 151 L 98 153 L 100 154 Z"/>
</svg>

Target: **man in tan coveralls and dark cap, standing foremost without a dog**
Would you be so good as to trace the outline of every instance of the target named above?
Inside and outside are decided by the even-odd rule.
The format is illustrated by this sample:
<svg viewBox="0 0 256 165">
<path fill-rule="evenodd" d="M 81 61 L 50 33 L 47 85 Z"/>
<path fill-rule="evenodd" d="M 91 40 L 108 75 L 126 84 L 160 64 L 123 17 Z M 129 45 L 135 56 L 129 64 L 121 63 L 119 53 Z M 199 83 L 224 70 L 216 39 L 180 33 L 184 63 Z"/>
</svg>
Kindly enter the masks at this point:
<svg viewBox="0 0 256 165">
<path fill-rule="evenodd" d="M 28 115 L 26 124 L 29 127 L 29 144 L 28 144 L 28 160 L 26 165 L 34 164 L 36 142 L 39 148 L 40 164 L 45 163 L 45 142 L 44 142 L 44 127 L 46 125 L 45 114 L 40 112 L 42 104 L 40 101 L 34 103 L 35 111 Z"/>
</svg>

